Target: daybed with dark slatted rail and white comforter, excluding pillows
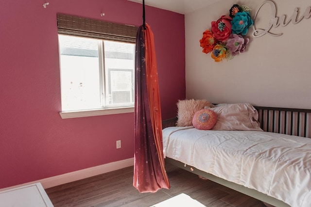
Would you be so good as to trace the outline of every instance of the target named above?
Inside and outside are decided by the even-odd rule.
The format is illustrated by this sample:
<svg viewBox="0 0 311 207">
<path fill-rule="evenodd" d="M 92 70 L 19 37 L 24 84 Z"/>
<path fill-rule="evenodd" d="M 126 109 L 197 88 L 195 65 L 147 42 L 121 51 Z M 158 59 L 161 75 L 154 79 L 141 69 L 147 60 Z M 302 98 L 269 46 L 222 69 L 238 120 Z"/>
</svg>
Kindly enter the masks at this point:
<svg viewBox="0 0 311 207">
<path fill-rule="evenodd" d="M 311 110 L 243 105 L 259 128 L 202 130 L 176 126 L 177 117 L 163 121 L 165 161 L 276 207 L 310 207 Z"/>
</svg>

